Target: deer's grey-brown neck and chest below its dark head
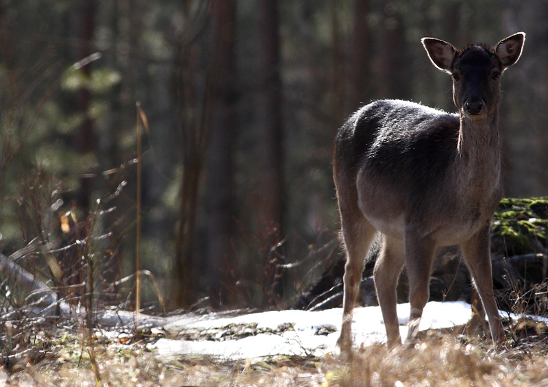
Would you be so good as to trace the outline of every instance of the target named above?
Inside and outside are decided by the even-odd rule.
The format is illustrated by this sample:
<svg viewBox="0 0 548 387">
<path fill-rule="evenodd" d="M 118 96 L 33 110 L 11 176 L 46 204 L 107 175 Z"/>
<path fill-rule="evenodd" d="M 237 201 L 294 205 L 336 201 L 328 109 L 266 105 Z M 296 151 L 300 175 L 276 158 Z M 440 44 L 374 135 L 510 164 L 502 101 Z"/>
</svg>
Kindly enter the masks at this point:
<svg viewBox="0 0 548 387">
<path fill-rule="evenodd" d="M 473 201 L 488 198 L 499 186 L 498 114 L 479 120 L 460 116 L 457 175 L 462 195 Z"/>
</svg>

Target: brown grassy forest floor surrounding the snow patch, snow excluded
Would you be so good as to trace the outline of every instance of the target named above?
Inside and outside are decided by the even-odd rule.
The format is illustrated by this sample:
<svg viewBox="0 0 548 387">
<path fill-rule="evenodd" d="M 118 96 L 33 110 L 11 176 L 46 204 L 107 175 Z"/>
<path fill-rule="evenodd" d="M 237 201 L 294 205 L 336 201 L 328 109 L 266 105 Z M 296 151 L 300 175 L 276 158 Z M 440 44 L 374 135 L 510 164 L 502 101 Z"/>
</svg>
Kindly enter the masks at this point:
<svg viewBox="0 0 548 387">
<path fill-rule="evenodd" d="M 416 342 L 392 350 L 382 342 L 361 345 L 340 362 L 332 351 L 245 358 L 158 349 L 161 340 L 220 344 L 282 334 L 256 323 L 135 332 L 41 319 L 7 323 L 0 331 L 0 386 L 548 386 L 546 324 L 506 319 L 505 327 L 509 342 L 499 351 L 488 339 L 466 338 L 459 325 L 425 329 Z"/>
</svg>

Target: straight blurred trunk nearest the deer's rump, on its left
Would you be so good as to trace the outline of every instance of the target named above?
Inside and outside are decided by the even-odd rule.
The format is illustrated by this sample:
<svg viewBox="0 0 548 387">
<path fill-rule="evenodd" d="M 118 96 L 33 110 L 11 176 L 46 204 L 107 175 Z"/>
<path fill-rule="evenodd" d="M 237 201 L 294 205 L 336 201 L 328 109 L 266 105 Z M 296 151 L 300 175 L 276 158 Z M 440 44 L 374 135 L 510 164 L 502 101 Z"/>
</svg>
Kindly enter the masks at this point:
<svg viewBox="0 0 548 387">
<path fill-rule="evenodd" d="M 282 143 L 282 82 L 279 77 L 277 0 L 258 3 L 260 86 L 258 110 L 259 227 L 262 227 L 264 297 L 262 307 L 273 305 L 284 295 L 282 256 L 276 247 L 283 238 L 284 155 Z"/>
</svg>

